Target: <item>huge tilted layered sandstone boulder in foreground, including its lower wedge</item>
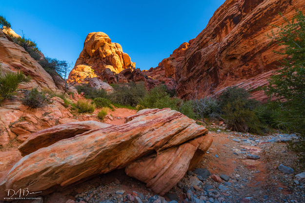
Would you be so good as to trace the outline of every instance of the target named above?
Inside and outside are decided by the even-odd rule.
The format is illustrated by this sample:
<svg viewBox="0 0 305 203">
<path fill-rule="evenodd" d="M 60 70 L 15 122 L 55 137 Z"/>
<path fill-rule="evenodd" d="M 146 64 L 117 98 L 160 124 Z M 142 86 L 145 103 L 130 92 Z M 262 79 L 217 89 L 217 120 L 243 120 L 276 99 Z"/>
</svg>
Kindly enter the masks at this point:
<svg viewBox="0 0 305 203">
<path fill-rule="evenodd" d="M 34 150 L 38 150 L 27 151 L 25 154 L 30 154 L 14 165 L 0 183 L 0 192 L 4 188 L 24 187 L 31 188 L 32 192 L 42 191 L 37 195 L 43 195 L 127 166 L 127 174 L 163 194 L 178 183 L 194 165 L 194 160 L 200 161 L 212 142 L 206 128 L 170 109 L 144 109 L 128 117 L 122 125 L 98 126 L 99 129 L 80 127 L 80 134 L 68 133 L 69 138 L 62 135 L 75 124 L 67 123 L 30 136 L 26 145 L 33 142 Z M 88 131 L 83 132 L 84 129 Z M 53 143 L 49 139 L 52 135 L 63 137 L 55 136 L 56 141 L 62 140 Z M 147 162 L 158 162 L 165 168 L 149 166 Z M 132 172 L 137 163 L 141 166 Z M 140 171 L 144 173 L 141 177 Z"/>
</svg>

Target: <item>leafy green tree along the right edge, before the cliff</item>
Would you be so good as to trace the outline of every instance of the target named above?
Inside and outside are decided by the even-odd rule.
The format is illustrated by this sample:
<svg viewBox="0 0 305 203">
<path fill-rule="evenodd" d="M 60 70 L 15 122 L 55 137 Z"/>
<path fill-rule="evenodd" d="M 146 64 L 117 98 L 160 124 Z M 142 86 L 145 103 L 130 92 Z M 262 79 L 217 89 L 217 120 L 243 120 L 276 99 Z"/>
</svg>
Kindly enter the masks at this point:
<svg viewBox="0 0 305 203">
<path fill-rule="evenodd" d="M 279 126 L 300 134 L 300 140 L 290 146 L 300 157 L 305 166 L 305 16 L 297 11 L 292 20 L 284 16 L 285 24 L 275 26 L 269 36 L 273 41 L 285 48 L 277 54 L 285 56 L 282 68 L 270 77 L 265 93 L 278 99 L 285 98 L 281 104 Z"/>
</svg>

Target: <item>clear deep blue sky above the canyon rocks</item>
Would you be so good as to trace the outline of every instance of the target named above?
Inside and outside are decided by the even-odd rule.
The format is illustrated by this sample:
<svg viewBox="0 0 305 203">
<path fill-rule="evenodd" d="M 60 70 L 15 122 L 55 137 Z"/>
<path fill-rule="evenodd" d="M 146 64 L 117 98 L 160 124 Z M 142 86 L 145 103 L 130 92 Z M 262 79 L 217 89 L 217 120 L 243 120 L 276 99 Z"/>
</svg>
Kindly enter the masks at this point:
<svg viewBox="0 0 305 203">
<path fill-rule="evenodd" d="M 156 67 L 195 38 L 224 0 L 6 0 L 0 15 L 51 58 L 74 62 L 90 32 L 104 32 L 137 68 Z"/>
</svg>

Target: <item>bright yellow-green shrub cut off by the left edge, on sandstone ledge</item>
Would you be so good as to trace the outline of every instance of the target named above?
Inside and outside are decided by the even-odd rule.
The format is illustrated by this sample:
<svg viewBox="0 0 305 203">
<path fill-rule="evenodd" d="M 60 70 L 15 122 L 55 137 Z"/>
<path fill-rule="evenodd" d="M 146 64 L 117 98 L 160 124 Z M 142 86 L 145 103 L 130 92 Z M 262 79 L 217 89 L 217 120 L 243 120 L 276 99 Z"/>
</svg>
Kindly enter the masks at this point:
<svg viewBox="0 0 305 203">
<path fill-rule="evenodd" d="M 6 73 L 0 76 L 0 102 L 11 98 L 17 90 L 18 84 L 30 81 L 23 73 Z"/>
</svg>

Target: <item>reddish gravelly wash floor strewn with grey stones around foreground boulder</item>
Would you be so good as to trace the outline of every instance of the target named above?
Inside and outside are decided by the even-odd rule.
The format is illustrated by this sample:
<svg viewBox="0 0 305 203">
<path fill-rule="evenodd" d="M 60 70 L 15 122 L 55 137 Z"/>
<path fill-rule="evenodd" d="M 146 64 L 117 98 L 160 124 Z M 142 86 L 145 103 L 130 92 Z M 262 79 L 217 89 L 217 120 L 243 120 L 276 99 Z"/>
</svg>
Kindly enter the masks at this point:
<svg viewBox="0 0 305 203">
<path fill-rule="evenodd" d="M 294 135 L 255 136 L 210 131 L 214 142 L 198 168 L 163 197 L 123 170 L 91 179 L 37 203 L 303 203 L 305 174 L 286 141 Z M 282 165 L 281 165 L 282 164 Z M 284 166 L 283 166 L 284 165 Z M 299 174 L 299 175 L 297 175 Z M 69 199 L 69 200 L 67 200 Z"/>
</svg>

